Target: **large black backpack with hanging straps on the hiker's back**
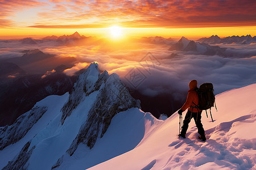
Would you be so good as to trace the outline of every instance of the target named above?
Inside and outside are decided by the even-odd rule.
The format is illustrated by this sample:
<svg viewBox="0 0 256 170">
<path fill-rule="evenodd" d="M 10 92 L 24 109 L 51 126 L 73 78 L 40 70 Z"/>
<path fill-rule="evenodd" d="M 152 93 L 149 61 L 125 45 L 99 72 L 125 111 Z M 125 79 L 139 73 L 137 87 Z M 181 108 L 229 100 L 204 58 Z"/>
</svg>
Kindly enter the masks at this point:
<svg viewBox="0 0 256 170">
<path fill-rule="evenodd" d="M 207 114 L 207 109 L 211 109 L 212 107 L 214 107 L 214 104 L 215 104 L 215 108 L 217 111 L 217 107 L 215 103 L 215 95 L 213 94 L 214 90 L 213 90 L 212 83 L 201 84 L 199 88 L 196 88 L 196 92 L 199 97 L 199 105 L 197 105 L 197 107 L 200 110 L 205 110 Z M 208 114 L 207 114 L 207 117 L 208 117 Z M 212 112 L 210 112 L 210 117 L 212 118 Z M 213 118 L 212 118 L 212 122 L 213 122 Z"/>
</svg>

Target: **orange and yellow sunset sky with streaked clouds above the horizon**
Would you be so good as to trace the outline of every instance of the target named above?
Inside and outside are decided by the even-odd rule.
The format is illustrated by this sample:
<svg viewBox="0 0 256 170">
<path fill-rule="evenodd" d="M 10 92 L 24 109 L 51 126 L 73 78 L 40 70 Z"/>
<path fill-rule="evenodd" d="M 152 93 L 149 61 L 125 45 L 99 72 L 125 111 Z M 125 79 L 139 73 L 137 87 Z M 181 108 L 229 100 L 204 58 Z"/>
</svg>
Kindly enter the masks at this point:
<svg viewBox="0 0 256 170">
<path fill-rule="evenodd" d="M 113 25 L 129 36 L 256 35 L 255 0 L 0 0 L 0 7 L 0 38 L 104 36 Z"/>
</svg>

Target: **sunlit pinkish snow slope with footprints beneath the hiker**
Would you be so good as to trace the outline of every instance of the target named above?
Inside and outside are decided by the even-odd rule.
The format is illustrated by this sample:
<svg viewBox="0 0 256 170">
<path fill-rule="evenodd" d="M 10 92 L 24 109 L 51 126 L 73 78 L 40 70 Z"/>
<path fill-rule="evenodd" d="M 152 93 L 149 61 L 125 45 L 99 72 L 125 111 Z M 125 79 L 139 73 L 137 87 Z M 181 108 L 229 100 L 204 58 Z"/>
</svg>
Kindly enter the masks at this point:
<svg viewBox="0 0 256 170">
<path fill-rule="evenodd" d="M 206 142 L 197 140 L 193 120 L 187 138 L 178 139 L 177 114 L 166 121 L 145 120 L 137 147 L 89 169 L 256 169 L 255 95 L 256 84 L 217 95 L 214 122 L 205 112 L 202 116 Z"/>
</svg>

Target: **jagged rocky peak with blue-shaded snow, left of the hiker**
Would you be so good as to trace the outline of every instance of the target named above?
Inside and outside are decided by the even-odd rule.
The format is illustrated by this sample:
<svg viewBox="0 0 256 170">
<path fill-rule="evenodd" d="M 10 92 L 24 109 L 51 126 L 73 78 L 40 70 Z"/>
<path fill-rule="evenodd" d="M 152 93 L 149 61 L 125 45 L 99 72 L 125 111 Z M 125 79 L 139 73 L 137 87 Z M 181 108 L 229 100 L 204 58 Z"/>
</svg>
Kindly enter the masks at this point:
<svg viewBox="0 0 256 170">
<path fill-rule="evenodd" d="M 79 76 L 70 95 L 48 96 L 13 125 L 1 128 L 0 168 L 61 167 L 67 163 L 65 156 L 69 158 L 81 152 L 81 146 L 88 150 L 94 148 L 104 137 L 112 118 L 132 108 L 139 112 L 139 101 L 130 96 L 119 76 L 109 75 L 107 71 L 100 74 L 98 64 L 92 63 Z M 101 162 L 126 149 L 106 155 Z M 97 163 L 100 162 L 92 165 Z"/>
</svg>

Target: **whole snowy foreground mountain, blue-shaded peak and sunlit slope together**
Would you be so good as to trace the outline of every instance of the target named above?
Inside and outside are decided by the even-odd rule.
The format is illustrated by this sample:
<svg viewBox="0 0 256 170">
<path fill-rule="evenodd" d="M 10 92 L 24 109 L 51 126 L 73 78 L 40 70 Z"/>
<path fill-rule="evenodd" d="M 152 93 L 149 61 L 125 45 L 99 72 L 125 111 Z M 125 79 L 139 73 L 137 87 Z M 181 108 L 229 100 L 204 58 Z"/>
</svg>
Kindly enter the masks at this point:
<svg viewBox="0 0 256 170">
<path fill-rule="evenodd" d="M 144 113 L 117 74 L 92 63 L 70 94 L 48 96 L 0 129 L 0 168 L 255 169 L 255 95 L 256 84 L 216 95 L 214 122 L 202 118 L 207 141 L 193 121 L 178 139 L 177 113 Z"/>
</svg>

